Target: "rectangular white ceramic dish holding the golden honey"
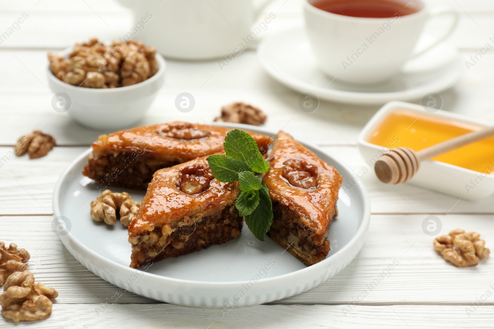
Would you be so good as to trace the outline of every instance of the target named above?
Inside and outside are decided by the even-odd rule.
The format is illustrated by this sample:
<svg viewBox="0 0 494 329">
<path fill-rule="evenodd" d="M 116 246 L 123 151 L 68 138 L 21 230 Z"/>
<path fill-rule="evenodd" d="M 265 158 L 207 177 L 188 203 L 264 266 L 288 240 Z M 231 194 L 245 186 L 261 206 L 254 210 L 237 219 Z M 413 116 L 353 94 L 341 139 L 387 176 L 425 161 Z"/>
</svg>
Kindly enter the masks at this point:
<svg viewBox="0 0 494 329">
<path fill-rule="evenodd" d="M 367 139 L 381 121 L 390 112 L 395 110 L 409 110 L 432 117 L 450 118 L 455 121 L 462 121 L 481 127 L 492 125 L 492 123 L 484 120 L 478 120 L 444 110 L 429 113 L 420 105 L 405 102 L 389 102 L 374 114 L 359 135 L 359 151 L 366 161 L 374 159 L 375 156 L 382 156 L 383 147 L 371 144 L 367 142 Z M 472 183 L 472 180 L 474 183 Z M 433 160 L 422 161 L 418 172 L 409 183 L 467 200 L 483 199 L 494 193 L 494 175 L 487 175 Z M 473 187 L 473 189 L 468 188 L 467 185 Z"/>
</svg>

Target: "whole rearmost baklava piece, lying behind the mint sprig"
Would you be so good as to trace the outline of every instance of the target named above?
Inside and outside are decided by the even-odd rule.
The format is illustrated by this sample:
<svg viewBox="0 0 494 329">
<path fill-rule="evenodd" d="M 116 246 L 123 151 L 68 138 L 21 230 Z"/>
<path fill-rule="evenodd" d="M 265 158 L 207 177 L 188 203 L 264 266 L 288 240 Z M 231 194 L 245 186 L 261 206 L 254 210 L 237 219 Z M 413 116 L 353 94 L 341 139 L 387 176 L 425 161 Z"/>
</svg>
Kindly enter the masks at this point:
<svg viewBox="0 0 494 329">
<path fill-rule="evenodd" d="M 91 145 L 82 175 L 105 186 L 146 189 L 158 169 L 222 151 L 230 130 L 174 121 L 101 135 Z M 247 133 L 265 153 L 271 138 Z"/>
</svg>

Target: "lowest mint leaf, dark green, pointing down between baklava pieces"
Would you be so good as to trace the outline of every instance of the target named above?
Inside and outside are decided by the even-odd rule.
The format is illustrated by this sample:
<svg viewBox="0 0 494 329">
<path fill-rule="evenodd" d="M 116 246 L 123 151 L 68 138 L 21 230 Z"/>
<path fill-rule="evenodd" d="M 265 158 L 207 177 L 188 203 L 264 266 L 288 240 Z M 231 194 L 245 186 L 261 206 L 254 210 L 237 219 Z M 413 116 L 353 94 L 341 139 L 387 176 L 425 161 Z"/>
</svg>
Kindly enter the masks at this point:
<svg viewBox="0 0 494 329">
<path fill-rule="evenodd" d="M 272 223 L 273 209 L 271 198 L 266 184 L 262 183 L 262 187 L 259 190 L 259 206 L 257 206 L 252 214 L 246 216 L 246 224 L 257 239 L 264 241 L 264 236 L 269 231 Z"/>
</svg>

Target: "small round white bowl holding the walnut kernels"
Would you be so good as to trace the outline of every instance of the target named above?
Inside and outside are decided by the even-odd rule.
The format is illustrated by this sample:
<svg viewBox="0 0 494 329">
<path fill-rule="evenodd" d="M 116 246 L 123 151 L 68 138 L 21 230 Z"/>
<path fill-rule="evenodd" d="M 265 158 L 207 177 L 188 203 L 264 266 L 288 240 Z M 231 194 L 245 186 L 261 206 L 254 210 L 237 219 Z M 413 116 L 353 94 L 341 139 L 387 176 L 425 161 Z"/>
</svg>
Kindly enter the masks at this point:
<svg viewBox="0 0 494 329">
<path fill-rule="evenodd" d="M 66 57 L 72 47 L 60 52 Z M 77 87 L 59 80 L 47 67 L 48 84 L 53 93 L 69 95 L 72 107 L 69 114 L 78 122 L 95 129 L 119 130 L 129 128 L 149 109 L 159 89 L 165 83 L 165 59 L 156 54 L 160 66 L 149 79 L 131 86 L 96 89 Z"/>
</svg>

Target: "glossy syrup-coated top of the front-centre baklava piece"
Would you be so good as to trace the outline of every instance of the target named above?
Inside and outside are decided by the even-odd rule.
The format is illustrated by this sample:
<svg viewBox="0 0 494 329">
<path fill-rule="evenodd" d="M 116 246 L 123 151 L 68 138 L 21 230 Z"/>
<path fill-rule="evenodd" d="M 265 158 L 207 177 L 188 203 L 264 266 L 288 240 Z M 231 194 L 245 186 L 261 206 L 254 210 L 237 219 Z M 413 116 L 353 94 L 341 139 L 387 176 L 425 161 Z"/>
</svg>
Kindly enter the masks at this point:
<svg viewBox="0 0 494 329">
<path fill-rule="evenodd" d="M 207 156 L 204 156 L 160 169 L 154 174 L 142 199 L 141 207 L 128 226 L 130 237 L 152 231 L 156 226 L 173 229 L 185 216 L 200 220 L 215 212 L 218 207 L 225 207 L 235 202 L 240 194 L 239 183 L 221 183 L 214 178 L 211 179 L 212 175 L 204 176 L 208 180 L 209 187 L 200 190 L 197 194 L 189 194 L 181 190 L 180 183 L 187 179 L 188 169 L 194 168 L 195 172 L 198 169 L 210 171 L 206 158 Z"/>
</svg>

